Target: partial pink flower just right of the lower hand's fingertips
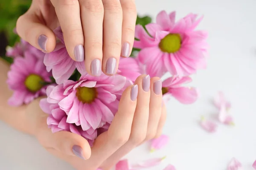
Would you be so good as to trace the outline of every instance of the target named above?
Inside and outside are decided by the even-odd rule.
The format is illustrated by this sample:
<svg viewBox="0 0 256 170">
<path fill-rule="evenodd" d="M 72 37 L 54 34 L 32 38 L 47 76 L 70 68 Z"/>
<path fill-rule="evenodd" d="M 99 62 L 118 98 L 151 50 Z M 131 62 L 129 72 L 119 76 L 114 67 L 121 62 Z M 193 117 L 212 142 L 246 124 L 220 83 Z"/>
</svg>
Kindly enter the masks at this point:
<svg viewBox="0 0 256 170">
<path fill-rule="evenodd" d="M 171 96 L 183 104 L 192 104 L 198 99 L 196 88 L 182 87 L 184 83 L 191 82 L 190 77 L 173 76 L 163 81 L 163 99 L 169 100 Z"/>
</svg>

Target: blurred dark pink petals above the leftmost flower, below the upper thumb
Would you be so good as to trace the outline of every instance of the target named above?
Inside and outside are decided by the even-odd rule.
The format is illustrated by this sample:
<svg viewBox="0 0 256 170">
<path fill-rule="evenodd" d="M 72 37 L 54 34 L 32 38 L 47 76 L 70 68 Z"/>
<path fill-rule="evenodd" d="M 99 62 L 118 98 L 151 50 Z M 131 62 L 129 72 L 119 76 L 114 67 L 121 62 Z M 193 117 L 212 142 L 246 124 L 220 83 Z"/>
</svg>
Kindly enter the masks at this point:
<svg viewBox="0 0 256 170">
<path fill-rule="evenodd" d="M 24 56 L 25 52 L 30 52 L 35 57 L 43 58 L 44 53 L 37 48 L 33 47 L 26 42 L 25 40 L 20 40 L 20 42 L 16 43 L 14 47 L 7 46 L 6 48 L 6 56 L 7 57 L 21 57 Z"/>
</svg>

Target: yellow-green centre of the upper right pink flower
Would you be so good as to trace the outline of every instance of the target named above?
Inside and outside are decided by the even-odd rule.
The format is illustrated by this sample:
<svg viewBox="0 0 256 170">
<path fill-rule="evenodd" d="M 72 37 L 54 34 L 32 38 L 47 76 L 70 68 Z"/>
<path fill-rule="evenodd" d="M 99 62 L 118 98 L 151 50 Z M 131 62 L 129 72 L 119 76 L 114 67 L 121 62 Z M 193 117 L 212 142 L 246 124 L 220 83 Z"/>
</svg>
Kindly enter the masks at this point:
<svg viewBox="0 0 256 170">
<path fill-rule="evenodd" d="M 159 43 L 161 51 L 166 53 L 175 53 L 181 46 L 180 34 L 168 34 Z"/>
</svg>

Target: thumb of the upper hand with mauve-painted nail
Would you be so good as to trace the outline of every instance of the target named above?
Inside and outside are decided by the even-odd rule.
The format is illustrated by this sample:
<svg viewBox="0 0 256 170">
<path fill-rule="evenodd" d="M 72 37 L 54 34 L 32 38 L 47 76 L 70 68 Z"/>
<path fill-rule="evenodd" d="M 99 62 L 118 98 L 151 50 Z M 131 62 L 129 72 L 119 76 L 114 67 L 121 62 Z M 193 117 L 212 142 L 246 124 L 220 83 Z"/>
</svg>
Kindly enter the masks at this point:
<svg viewBox="0 0 256 170">
<path fill-rule="evenodd" d="M 50 28 L 42 24 L 32 12 L 18 18 L 16 30 L 23 40 L 41 51 L 51 52 L 55 48 L 55 34 Z"/>
</svg>

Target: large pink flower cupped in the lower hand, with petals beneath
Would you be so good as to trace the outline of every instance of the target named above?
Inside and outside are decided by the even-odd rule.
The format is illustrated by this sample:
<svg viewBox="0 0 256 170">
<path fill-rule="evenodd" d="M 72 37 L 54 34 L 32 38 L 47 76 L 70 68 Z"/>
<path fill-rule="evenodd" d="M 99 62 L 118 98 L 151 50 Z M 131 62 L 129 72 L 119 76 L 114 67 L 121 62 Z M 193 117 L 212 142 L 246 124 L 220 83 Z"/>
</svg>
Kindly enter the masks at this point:
<svg viewBox="0 0 256 170">
<path fill-rule="evenodd" d="M 98 129 L 107 129 L 112 122 L 126 85 L 126 78 L 121 75 L 93 77 L 86 74 L 76 82 L 66 80 L 61 85 L 49 86 L 47 102 L 51 107 L 46 110 L 46 104 L 41 105 L 42 110 L 51 114 L 47 124 L 52 132 L 77 130 L 74 133 L 79 132 L 93 141 Z"/>
</svg>

